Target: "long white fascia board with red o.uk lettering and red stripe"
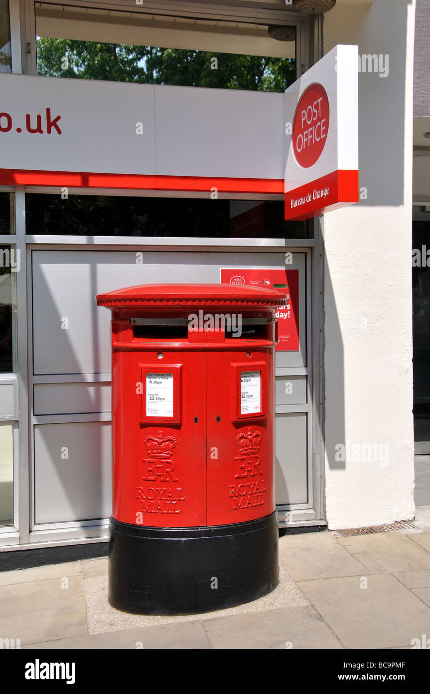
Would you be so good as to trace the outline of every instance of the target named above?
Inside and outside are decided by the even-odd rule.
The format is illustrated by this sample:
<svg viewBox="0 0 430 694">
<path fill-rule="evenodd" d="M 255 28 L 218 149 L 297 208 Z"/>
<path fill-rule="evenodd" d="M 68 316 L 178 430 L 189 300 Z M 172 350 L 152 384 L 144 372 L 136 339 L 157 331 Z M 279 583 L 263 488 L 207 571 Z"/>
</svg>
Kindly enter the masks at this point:
<svg viewBox="0 0 430 694">
<path fill-rule="evenodd" d="M 0 94 L 0 185 L 282 192 L 283 94 L 16 74 Z"/>
</svg>

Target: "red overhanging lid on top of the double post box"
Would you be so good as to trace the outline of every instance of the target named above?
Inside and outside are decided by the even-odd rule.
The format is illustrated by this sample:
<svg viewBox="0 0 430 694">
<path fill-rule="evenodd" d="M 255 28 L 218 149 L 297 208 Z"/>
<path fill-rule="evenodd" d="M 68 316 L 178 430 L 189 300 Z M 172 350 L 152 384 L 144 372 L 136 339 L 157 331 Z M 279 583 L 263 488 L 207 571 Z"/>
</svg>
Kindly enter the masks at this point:
<svg viewBox="0 0 430 694">
<path fill-rule="evenodd" d="M 250 285 L 138 285 L 96 296 L 98 306 L 183 306 L 251 305 L 278 306 L 285 303 L 283 291 Z"/>
</svg>

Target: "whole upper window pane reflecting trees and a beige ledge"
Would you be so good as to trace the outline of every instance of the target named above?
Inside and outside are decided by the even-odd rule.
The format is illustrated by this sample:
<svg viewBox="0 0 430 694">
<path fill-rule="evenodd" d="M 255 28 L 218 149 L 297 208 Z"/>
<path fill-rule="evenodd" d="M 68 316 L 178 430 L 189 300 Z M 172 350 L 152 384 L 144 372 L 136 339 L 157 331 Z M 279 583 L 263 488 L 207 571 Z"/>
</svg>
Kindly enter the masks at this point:
<svg viewBox="0 0 430 694">
<path fill-rule="evenodd" d="M 263 92 L 296 80 L 295 26 L 58 10 L 36 3 L 40 75 Z"/>
</svg>

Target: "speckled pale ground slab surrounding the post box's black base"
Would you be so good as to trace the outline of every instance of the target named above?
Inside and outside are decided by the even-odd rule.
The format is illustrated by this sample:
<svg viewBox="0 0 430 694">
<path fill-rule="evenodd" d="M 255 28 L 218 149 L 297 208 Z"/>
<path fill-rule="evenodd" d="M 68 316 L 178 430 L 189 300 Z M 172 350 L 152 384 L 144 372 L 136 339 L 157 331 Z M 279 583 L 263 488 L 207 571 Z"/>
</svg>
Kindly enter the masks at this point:
<svg viewBox="0 0 430 694">
<path fill-rule="evenodd" d="M 180 615 L 175 617 L 134 615 L 111 607 L 107 600 L 107 576 L 94 576 L 84 579 L 85 600 L 87 603 L 89 634 L 114 632 L 120 629 L 150 627 L 159 624 L 179 623 L 218 616 L 235 615 L 248 612 L 261 612 L 289 606 L 309 605 L 309 600 L 298 589 L 287 572 L 280 568 L 278 587 L 264 598 L 246 602 L 238 607 L 230 607 L 212 612 Z"/>
</svg>

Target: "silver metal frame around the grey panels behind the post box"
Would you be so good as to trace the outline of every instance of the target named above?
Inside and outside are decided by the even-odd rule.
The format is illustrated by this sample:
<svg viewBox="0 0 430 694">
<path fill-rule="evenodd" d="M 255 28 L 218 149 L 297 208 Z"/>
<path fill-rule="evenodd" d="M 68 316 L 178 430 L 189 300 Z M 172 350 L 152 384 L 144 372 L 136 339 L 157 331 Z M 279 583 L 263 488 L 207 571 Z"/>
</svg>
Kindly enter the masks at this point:
<svg viewBox="0 0 430 694">
<path fill-rule="evenodd" d="M 107 194 L 115 195 L 116 191 L 108 191 Z M 197 241 L 197 243 L 196 243 Z M 324 525 L 325 516 L 323 509 L 323 489 L 321 488 L 321 457 L 318 454 L 319 448 L 315 447 L 316 430 L 319 430 L 319 416 L 316 408 L 319 408 L 319 400 L 315 400 L 315 393 L 319 387 L 318 372 L 316 362 L 318 362 L 318 351 L 316 341 L 319 335 L 319 324 L 315 324 L 316 311 L 314 310 L 315 289 L 319 294 L 319 283 L 315 281 L 315 260 L 319 254 L 315 253 L 315 239 L 195 239 L 194 237 L 64 237 L 33 235 L 26 236 L 26 246 L 28 253 L 28 341 L 33 343 L 30 297 L 32 296 L 32 263 L 31 255 L 33 251 L 48 249 L 51 251 L 72 251 L 83 250 L 84 248 L 92 251 L 127 251 L 130 247 L 145 248 L 145 251 L 182 251 L 190 253 L 201 252 L 233 252 L 242 251 L 245 253 L 258 251 L 264 258 L 265 253 L 285 252 L 291 250 L 294 253 L 305 254 L 305 287 L 307 287 L 307 316 L 306 316 L 306 365 L 303 367 L 278 367 L 276 375 L 305 375 L 307 378 L 307 404 L 306 405 L 278 405 L 276 413 L 288 414 L 289 412 L 307 412 L 307 451 L 312 450 L 314 455 L 307 457 L 307 475 L 312 476 L 309 489 L 312 498 L 308 502 L 296 505 L 278 505 L 280 527 L 303 527 L 306 525 Z M 264 264 L 264 260 L 262 260 Z M 111 380 L 110 373 L 85 373 L 73 375 L 33 375 L 33 355 L 28 351 L 28 384 L 30 389 L 39 383 L 53 382 L 107 382 Z M 311 399 L 312 398 L 312 399 Z M 60 414 L 60 415 L 38 415 L 33 414 L 33 398 L 30 399 L 30 418 L 31 425 L 52 424 L 52 423 L 73 423 L 73 422 L 109 422 L 109 413 L 88 413 L 88 414 Z M 317 426 L 315 426 L 315 424 Z M 30 429 L 30 431 L 32 430 Z M 318 442 L 319 446 L 319 442 Z M 33 465 L 34 465 L 34 437 L 30 437 L 30 523 L 31 531 L 29 543 L 41 546 L 46 542 L 68 541 L 72 538 L 76 543 L 86 543 L 95 541 L 95 536 L 99 541 L 107 539 L 107 521 L 100 519 L 96 521 L 82 521 L 76 523 L 52 523 L 48 525 L 35 524 Z M 33 520 L 31 520 L 33 519 Z M 91 532 L 91 538 L 88 533 Z"/>
</svg>

